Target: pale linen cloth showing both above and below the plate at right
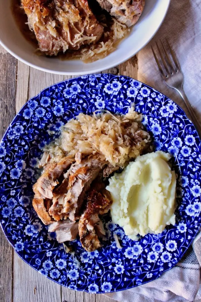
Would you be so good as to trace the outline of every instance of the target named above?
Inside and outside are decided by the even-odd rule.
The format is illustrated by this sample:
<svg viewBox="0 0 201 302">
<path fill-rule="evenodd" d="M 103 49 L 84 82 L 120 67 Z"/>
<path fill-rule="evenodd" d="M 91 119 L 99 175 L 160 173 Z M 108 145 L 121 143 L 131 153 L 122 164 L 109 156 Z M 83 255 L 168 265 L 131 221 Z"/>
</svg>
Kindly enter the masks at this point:
<svg viewBox="0 0 201 302">
<path fill-rule="evenodd" d="M 138 80 L 167 95 L 187 113 L 177 92 L 163 82 L 153 58 L 151 45 L 160 39 L 164 41 L 165 37 L 176 53 L 184 73 L 184 91 L 201 122 L 201 0 L 171 0 L 158 33 L 138 54 Z M 198 235 L 193 248 L 190 247 L 180 263 L 160 278 L 107 296 L 122 302 L 201 302 L 200 264 L 201 237 Z"/>
</svg>

